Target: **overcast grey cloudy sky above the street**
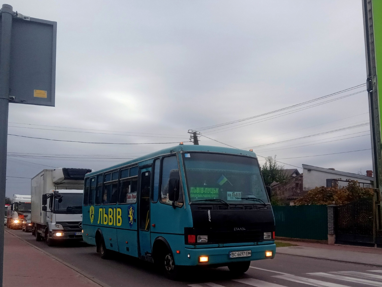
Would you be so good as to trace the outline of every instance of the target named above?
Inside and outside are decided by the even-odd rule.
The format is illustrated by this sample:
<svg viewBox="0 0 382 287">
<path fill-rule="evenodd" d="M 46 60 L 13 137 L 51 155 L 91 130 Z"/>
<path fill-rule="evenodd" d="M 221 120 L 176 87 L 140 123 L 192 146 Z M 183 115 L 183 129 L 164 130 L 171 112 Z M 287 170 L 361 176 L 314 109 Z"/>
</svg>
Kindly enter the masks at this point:
<svg viewBox="0 0 382 287">
<path fill-rule="evenodd" d="M 366 82 L 361 0 L 7 3 L 23 15 L 57 21 L 55 107 L 10 104 L 10 134 L 186 142 L 189 129 L 261 115 Z M 285 168 L 302 171 L 308 164 L 366 173 L 372 161 L 365 89 L 202 134 L 253 147 L 263 157 L 276 155 Z M 308 107 L 312 104 L 319 105 Z M 322 132 L 327 133 L 310 136 Z M 299 137 L 305 138 L 295 140 Z M 285 140 L 290 141 L 270 145 Z M 206 137 L 200 143 L 224 146 Z M 99 170 L 176 144 L 8 136 L 7 175 L 31 178 L 51 167 Z M 30 179 L 6 182 L 6 196 L 30 194 Z"/>
</svg>

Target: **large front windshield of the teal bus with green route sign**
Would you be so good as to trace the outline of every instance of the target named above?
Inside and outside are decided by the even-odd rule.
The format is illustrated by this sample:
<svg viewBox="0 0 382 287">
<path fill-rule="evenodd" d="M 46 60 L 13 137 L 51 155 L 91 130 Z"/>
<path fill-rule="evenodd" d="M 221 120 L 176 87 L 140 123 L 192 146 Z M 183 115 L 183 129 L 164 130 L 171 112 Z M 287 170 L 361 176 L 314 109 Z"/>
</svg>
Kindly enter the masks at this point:
<svg viewBox="0 0 382 287">
<path fill-rule="evenodd" d="M 224 204 L 269 202 L 255 158 L 185 153 L 190 201 Z"/>
</svg>

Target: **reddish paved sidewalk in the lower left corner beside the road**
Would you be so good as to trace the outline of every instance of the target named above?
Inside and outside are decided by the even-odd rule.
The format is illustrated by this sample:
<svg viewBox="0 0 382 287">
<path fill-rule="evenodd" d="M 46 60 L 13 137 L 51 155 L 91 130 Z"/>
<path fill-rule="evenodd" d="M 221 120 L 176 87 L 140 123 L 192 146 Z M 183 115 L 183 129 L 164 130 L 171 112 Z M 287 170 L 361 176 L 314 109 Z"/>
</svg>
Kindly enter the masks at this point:
<svg viewBox="0 0 382 287">
<path fill-rule="evenodd" d="M 100 287 L 5 230 L 3 286 Z"/>
</svg>

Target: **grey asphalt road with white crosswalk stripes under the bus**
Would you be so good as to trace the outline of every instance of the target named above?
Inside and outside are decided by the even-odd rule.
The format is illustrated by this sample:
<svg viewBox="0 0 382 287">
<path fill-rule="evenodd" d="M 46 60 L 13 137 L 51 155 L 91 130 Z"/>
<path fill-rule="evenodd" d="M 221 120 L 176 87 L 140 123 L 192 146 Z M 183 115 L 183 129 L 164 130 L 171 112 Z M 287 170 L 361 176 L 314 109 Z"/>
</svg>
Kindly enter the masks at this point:
<svg viewBox="0 0 382 287">
<path fill-rule="evenodd" d="M 95 246 L 83 242 L 48 247 L 44 241 L 37 242 L 31 233 L 8 231 L 111 287 L 382 287 L 382 268 L 277 254 L 277 251 L 274 259 L 253 261 L 241 277 L 232 277 L 227 267 L 194 268 L 188 270 L 182 281 L 172 281 L 157 272 L 152 264 L 130 256 L 115 254 L 112 259 L 104 260 L 96 253 Z M 317 272 L 321 273 L 308 274 Z"/>
</svg>

